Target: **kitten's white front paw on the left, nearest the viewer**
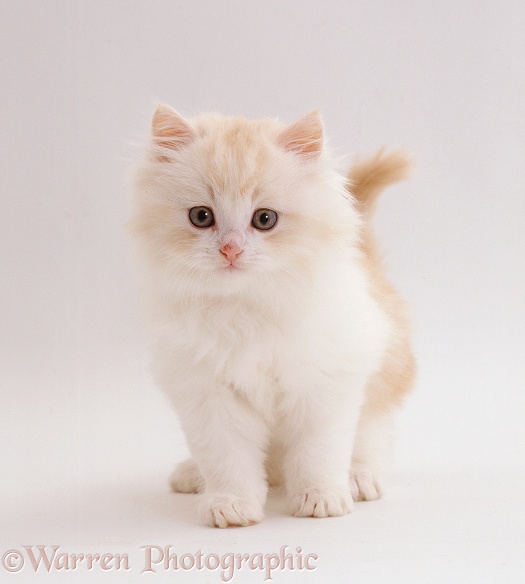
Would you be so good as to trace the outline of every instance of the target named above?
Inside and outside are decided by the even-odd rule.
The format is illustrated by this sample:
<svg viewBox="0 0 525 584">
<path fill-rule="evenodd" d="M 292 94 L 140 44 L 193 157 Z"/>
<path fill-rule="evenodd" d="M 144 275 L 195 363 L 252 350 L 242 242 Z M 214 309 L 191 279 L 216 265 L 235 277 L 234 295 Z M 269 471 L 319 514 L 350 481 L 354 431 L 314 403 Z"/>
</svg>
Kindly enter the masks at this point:
<svg viewBox="0 0 525 584">
<path fill-rule="evenodd" d="M 211 495 L 201 504 L 201 517 L 210 527 L 247 527 L 263 520 L 262 505 L 255 498 Z"/>
</svg>

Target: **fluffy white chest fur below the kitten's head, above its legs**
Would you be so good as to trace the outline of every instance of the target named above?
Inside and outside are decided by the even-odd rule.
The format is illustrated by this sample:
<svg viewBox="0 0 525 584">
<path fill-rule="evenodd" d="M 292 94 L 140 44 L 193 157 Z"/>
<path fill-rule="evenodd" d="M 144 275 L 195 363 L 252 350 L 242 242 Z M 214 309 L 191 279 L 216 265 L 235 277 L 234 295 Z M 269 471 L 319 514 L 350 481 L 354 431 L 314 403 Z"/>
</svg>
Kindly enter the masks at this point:
<svg viewBox="0 0 525 584">
<path fill-rule="evenodd" d="M 359 271 L 283 287 L 271 302 L 259 292 L 173 300 L 158 331 L 157 371 L 170 381 L 162 385 L 177 379 L 181 397 L 228 387 L 265 408 L 279 395 L 320 391 L 329 378 L 364 379 L 379 367 L 389 325 Z"/>
</svg>

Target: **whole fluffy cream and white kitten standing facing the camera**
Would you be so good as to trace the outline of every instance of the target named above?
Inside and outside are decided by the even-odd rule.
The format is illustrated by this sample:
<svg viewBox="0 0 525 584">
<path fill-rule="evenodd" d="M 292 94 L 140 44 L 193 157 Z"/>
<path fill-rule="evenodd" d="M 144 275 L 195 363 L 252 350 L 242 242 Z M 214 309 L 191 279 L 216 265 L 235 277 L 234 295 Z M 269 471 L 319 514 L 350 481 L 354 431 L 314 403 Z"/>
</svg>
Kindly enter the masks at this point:
<svg viewBox="0 0 525 584">
<path fill-rule="evenodd" d="M 157 108 L 131 230 L 155 376 L 192 454 L 171 486 L 203 493 L 206 524 L 261 521 L 281 483 L 302 517 L 381 495 L 414 362 L 370 214 L 407 169 L 379 153 L 338 174 L 317 112 L 285 125 Z"/>
</svg>

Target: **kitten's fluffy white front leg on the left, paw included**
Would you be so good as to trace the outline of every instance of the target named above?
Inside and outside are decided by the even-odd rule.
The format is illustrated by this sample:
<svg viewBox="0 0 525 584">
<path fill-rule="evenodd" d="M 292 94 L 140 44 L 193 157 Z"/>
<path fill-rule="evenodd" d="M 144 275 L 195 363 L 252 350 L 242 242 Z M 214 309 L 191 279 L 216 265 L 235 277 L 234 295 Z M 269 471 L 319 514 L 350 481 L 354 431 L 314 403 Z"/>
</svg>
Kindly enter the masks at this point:
<svg viewBox="0 0 525 584">
<path fill-rule="evenodd" d="M 264 421 L 227 387 L 204 394 L 196 391 L 178 409 L 204 479 L 200 506 L 204 523 L 231 527 L 260 522 L 268 489 Z"/>
</svg>

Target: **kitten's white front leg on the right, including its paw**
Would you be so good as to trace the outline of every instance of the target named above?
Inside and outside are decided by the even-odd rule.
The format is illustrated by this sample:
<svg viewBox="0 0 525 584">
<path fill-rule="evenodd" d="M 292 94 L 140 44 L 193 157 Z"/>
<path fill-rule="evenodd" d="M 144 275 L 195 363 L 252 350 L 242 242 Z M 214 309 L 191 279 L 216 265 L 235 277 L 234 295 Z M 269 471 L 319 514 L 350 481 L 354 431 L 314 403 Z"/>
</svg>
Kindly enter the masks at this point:
<svg viewBox="0 0 525 584">
<path fill-rule="evenodd" d="M 335 517 L 352 510 L 348 473 L 362 387 L 312 389 L 286 416 L 284 474 L 293 515 Z"/>
</svg>

